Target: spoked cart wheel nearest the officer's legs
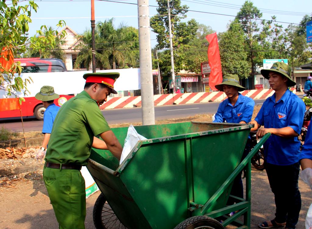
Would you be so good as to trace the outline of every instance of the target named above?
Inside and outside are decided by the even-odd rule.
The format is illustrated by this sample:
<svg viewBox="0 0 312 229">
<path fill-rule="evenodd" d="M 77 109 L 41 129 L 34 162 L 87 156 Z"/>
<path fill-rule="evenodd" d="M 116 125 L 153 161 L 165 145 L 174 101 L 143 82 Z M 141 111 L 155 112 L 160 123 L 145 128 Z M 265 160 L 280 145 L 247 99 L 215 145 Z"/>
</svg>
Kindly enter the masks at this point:
<svg viewBox="0 0 312 229">
<path fill-rule="evenodd" d="M 106 198 L 101 193 L 93 207 L 93 222 L 96 229 L 126 229 L 117 218 Z"/>
</svg>

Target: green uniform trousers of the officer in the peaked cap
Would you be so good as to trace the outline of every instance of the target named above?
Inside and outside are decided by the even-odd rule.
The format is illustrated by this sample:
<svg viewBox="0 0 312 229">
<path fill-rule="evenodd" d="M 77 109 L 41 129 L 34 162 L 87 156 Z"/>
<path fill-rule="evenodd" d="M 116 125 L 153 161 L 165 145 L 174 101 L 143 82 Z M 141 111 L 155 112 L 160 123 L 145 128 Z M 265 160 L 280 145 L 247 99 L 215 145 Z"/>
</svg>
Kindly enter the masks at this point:
<svg viewBox="0 0 312 229">
<path fill-rule="evenodd" d="M 60 229 L 85 229 L 85 179 L 75 169 L 43 169 Z"/>
</svg>

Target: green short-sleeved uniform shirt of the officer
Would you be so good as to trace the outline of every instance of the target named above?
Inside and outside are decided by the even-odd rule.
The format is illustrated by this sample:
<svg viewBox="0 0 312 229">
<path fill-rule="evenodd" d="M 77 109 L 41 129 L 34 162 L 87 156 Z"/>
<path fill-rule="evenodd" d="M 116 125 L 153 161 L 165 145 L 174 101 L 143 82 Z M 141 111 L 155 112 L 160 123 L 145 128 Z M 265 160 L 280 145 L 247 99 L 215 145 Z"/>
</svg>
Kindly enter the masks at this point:
<svg viewBox="0 0 312 229">
<path fill-rule="evenodd" d="M 87 165 L 93 137 L 109 131 L 97 102 L 82 91 L 59 110 L 51 132 L 46 161 Z"/>
</svg>

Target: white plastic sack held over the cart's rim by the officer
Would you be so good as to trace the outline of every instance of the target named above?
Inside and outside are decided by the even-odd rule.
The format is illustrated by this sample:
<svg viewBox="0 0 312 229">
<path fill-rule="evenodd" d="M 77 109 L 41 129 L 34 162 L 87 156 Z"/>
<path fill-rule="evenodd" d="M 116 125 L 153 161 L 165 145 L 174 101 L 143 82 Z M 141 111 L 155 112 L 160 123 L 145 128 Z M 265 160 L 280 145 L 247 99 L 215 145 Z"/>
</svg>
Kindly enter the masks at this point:
<svg viewBox="0 0 312 229">
<path fill-rule="evenodd" d="M 134 129 L 133 125 L 130 125 L 127 132 L 127 137 L 124 139 L 124 148 L 121 153 L 119 165 L 124 161 L 124 159 L 129 155 L 130 151 L 140 140 L 146 140 L 147 138 L 139 135 Z"/>
</svg>

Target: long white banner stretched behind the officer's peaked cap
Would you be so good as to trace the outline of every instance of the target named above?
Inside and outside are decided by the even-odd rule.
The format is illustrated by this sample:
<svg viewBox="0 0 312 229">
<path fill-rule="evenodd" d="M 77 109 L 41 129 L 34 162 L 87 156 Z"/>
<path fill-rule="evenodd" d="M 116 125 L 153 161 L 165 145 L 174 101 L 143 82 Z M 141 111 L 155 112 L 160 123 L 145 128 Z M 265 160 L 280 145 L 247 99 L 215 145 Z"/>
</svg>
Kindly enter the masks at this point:
<svg viewBox="0 0 312 229">
<path fill-rule="evenodd" d="M 44 73 L 22 73 L 23 81 L 31 77 L 33 83 L 27 84 L 27 89 L 30 93 L 22 97 L 34 97 L 42 86 L 48 85 L 54 87 L 55 93 L 59 95 L 76 94 L 83 91 L 85 86 L 85 73 L 92 71 L 79 72 L 44 72 Z M 115 70 L 100 70 L 97 72 L 119 72 L 120 77 L 114 84 L 116 91 L 128 91 L 141 89 L 139 68 L 115 69 Z M 20 94 L 23 94 L 19 93 Z M 0 98 L 6 98 L 7 94 L 4 90 L 0 90 Z"/>
</svg>

